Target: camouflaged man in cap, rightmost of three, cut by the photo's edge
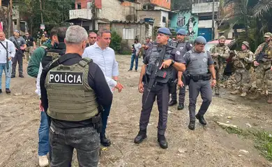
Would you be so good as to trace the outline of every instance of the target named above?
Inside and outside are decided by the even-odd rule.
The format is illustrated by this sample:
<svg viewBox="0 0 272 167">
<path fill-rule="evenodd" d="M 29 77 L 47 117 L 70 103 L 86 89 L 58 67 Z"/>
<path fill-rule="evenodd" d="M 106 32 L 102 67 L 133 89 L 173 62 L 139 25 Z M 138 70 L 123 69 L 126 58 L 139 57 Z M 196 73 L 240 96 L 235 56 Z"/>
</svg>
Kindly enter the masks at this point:
<svg viewBox="0 0 272 167">
<path fill-rule="evenodd" d="M 266 87 L 269 94 L 267 103 L 272 104 L 272 33 L 265 33 L 264 38 L 265 42 L 257 47 L 254 55 L 257 93 L 251 99 L 257 99 L 262 94 L 262 88 Z"/>
</svg>

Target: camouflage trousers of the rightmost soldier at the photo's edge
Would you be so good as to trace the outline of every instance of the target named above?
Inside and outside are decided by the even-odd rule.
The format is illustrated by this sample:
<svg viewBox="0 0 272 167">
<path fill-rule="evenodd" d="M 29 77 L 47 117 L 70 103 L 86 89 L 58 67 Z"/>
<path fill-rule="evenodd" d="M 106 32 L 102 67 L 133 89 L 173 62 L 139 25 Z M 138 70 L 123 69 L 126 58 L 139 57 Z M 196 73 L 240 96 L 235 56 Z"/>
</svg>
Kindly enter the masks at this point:
<svg viewBox="0 0 272 167">
<path fill-rule="evenodd" d="M 260 63 L 256 68 L 256 87 L 257 91 L 262 91 L 262 88 L 266 89 L 268 94 L 272 94 L 272 70 L 271 63 Z"/>
</svg>

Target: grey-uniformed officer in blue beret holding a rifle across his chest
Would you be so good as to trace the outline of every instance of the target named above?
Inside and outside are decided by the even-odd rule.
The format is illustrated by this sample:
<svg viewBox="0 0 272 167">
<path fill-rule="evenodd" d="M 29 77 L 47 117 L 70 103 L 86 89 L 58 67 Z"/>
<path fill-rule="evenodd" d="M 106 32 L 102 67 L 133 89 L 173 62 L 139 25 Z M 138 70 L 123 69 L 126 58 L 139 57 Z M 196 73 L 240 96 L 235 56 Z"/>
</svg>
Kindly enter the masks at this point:
<svg viewBox="0 0 272 167">
<path fill-rule="evenodd" d="M 164 149 L 168 147 L 165 138 L 169 102 L 168 82 L 172 79 L 173 68 L 179 71 L 185 70 L 183 63 L 176 62 L 181 62 L 182 57 L 175 54 L 173 47 L 167 45 L 167 40 L 171 34 L 167 28 L 158 29 L 156 40 L 158 45 L 152 45 L 151 50 L 144 58 L 138 86 L 139 93 L 143 93 L 142 112 L 139 119 L 139 133 L 134 140 L 135 143 L 141 143 L 146 138 L 146 127 L 157 96 L 159 111 L 158 143 L 160 148 Z M 161 63 L 162 61 L 163 63 Z M 143 83 L 144 78 L 145 81 Z"/>
</svg>

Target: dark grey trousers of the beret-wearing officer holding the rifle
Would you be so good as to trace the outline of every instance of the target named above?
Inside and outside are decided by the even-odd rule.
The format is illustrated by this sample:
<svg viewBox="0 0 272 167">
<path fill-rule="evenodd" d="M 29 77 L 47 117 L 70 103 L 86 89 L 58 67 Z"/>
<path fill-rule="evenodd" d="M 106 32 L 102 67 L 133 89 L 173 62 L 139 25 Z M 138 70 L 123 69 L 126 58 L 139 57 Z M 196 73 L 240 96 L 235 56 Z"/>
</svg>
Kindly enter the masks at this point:
<svg viewBox="0 0 272 167">
<path fill-rule="evenodd" d="M 168 116 L 168 102 L 169 102 L 169 88 L 168 84 L 157 84 L 149 95 L 146 86 L 144 87 L 144 94 L 142 95 L 142 112 L 139 118 L 139 129 L 146 130 L 149 124 L 149 118 L 152 111 L 153 104 L 157 97 L 159 120 L 158 120 L 158 134 L 164 135 L 167 127 Z"/>
</svg>

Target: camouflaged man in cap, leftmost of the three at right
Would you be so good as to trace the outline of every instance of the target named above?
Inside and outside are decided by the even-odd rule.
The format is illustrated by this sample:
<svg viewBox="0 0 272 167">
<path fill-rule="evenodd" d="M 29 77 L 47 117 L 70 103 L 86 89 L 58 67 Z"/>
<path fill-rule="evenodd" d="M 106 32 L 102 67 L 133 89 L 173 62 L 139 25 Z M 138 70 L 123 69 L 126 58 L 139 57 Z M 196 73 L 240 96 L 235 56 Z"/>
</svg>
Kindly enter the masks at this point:
<svg viewBox="0 0 272 167">
<path fill-rule="evenodd" d="M 223 77 L 224 68 L 227 65 L 225 62 L 227 58 L 229 58 L 229 47 L 225 45 L 226 38 L 225 36 L 220 36 L 218 39 L 218 45 L 214 45 L 211 47 L 211 56 L 214 61 L 214 65 L 216 67 L 216 95 L 220 95 L 220 83 L 219 81 Z"/>
</svg>

